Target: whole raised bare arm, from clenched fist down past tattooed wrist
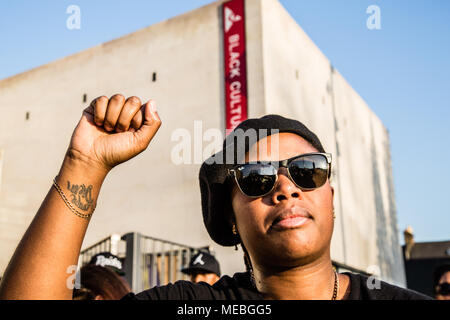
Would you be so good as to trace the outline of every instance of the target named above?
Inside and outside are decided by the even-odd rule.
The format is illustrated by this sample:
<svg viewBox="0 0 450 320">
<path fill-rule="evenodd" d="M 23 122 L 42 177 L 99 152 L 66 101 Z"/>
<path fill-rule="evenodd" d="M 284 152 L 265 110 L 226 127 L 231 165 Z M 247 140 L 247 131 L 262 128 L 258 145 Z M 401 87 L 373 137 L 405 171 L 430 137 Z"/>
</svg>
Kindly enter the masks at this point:
<svg viewBox="0 0 450 320">
<path fill-rule="evenodd" d="M 0 299 L 71 299 L 73 274 L 109 170 L 144 151 L 161 126 L 155 103 L 101 96 L 83 111 L 57 177 L 0 283 Z M 61 191 L 60 190 L 60 191 Z M 69 208 L 70 207 L 70 208 Z"/>
</svg>

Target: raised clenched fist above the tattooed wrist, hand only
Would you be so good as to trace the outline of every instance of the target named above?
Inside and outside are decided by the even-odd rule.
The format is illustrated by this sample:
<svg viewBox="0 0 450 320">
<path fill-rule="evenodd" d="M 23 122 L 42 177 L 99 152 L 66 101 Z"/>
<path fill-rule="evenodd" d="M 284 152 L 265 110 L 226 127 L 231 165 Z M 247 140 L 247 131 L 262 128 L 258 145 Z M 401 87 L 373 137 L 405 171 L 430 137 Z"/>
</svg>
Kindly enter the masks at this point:
<svg viewBox="0 0 450 320">
<path fill-rule="evenodd" d="M 68 155 L 109 171 L 144 151 L 160 126 L 154 101 L 102 96 L 83 111 Z"/>
</svg>

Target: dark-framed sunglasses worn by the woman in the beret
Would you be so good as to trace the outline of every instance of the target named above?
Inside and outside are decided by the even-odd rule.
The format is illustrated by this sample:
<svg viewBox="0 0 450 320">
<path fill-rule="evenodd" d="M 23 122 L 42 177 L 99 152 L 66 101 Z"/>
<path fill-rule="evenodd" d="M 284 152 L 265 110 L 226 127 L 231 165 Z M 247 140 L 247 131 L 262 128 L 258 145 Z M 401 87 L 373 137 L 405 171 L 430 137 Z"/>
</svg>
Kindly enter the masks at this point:
<svg viewBox="0 0 450 320">
<path fill-rule="evenodd" d="M 278 169 L 287 169 L 297 187 L 309 191 L 320 188 L 331 174 L 330 153 L 307 153 L 281 161 L 257 161 L 228 170 L 241 192 L 251 198 L 272 192 L 278 181 Z"/>
</svg>

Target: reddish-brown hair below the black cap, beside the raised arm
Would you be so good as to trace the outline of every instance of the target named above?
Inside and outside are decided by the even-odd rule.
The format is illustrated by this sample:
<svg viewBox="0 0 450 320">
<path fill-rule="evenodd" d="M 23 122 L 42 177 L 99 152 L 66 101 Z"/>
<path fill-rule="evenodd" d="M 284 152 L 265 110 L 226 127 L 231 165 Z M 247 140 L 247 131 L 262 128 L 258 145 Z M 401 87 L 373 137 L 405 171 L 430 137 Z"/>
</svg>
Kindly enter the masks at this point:
<svg viewBox="0 0 450 320">
<path fill-rule="evenodd" d="M 73 300 L 120 300 L 130 287 L 108 267 L 87 264 L 80 270 L 80 288 L 73 290 Z"/>
</svg>

